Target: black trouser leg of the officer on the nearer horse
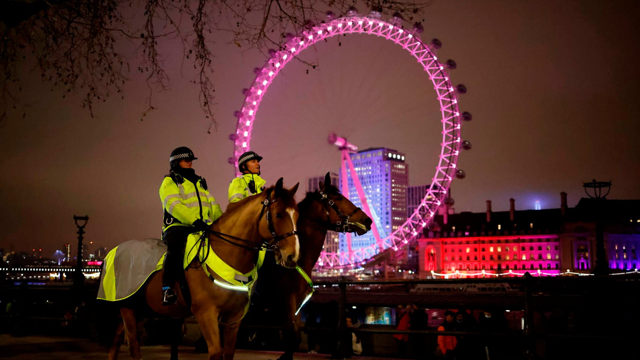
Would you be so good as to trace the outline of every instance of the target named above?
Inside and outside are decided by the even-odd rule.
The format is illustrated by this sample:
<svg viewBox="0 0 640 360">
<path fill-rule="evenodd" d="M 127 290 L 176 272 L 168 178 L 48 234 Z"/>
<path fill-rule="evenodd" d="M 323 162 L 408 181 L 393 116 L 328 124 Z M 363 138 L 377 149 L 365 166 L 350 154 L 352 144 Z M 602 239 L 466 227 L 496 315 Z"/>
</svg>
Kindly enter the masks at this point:
<svg viewBox="0 0 640 360">
<path fill-rule="evenodd" d="M 162 241 L 167 247 L 163 263 L 163 286 L 170 286 L 173 288 L 177 275 L 182 271 L 182 254 L 184 244 L 187 241 L 187 236 L 194 232 L 194 227 L 175 225 L 166 229 L 162 234 Z"/>
</svg>

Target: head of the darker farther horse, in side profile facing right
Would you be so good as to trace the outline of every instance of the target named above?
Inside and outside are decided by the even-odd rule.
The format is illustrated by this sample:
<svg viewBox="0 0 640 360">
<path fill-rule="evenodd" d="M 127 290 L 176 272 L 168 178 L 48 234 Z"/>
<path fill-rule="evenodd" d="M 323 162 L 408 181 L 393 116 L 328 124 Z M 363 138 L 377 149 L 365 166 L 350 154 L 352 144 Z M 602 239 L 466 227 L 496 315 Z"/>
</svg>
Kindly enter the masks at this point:
<svg viewBox="0 0 640 360">
<path fill-rule="evenodd" d="M 371 230 L 372 220 L 362 209 L 356 207 L 353 202 L 342 196 L 339 190 L 331 184 L 329 173 L 324 176 L 324 183 L 318 184 L 319 202 L 324 207 L 323 216 L 328 226 L 339 229 L 342 233 L 356 233 L 362 235 Z M 334 229 L 330 229 L 334 230 Z"/>
</svg>

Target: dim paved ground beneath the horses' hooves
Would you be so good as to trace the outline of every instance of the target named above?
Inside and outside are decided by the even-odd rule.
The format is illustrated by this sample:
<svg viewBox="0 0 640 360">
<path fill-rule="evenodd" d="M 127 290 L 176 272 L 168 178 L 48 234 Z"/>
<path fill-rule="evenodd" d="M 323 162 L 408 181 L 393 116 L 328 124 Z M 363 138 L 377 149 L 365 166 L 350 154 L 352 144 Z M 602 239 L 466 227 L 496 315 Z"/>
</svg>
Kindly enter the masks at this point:
<svg viewBox="0 0 640 360">
<path fill-rule="evenodd" d="M 168 346 L 143 347 L 142 356 L 145 360 L 168 360 L 170 348 Z M 271 360 L 280 356 L 279 352 L 237 350 L 237 360 Z M 180 360 L 204 360 L 206 354 L 196 354 L 193 347 L 180 347 Z M 0 358 L 13 360 L 51 359 L 51 360 L 80 360 L 106 359 L 104 349 L 88 340 L 55 338 L 49 336 L 26 336 L 13 338 L 7 334 L 0 334 Z M 302 354 L 294 356 L 296 360 L 328 359 L 326 354 Z M 354 360 L 380 360 L 380 357 L 353 357 Z M 131 360 L 126 345 L 120 348 L 118 360 Z"/>
</svg>

